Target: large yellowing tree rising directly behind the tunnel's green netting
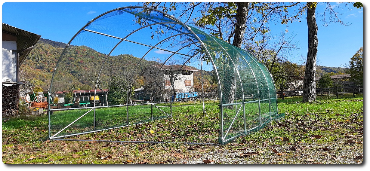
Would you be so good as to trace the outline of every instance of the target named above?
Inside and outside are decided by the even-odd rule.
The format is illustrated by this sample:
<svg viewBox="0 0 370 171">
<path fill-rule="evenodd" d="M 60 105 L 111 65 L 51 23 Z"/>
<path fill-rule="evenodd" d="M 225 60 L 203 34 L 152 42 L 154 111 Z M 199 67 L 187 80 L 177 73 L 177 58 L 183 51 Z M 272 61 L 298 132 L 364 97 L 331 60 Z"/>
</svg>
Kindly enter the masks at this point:
<svg viewBox="0 0 370 171">
<path fill-rule="evenodd" d="M 299 18 L 300 14 L 291 13 L 288 7 L 299 3 L 249 3 L 249 2 L 205 2 L 205 3 L 139 3 L 143 6 L 158 8 L 164 12 L 174 13 L 185 24 L 194 24 L 205 31 L 239 48 L 245 48 L 261 35 L 269 34 L 269 20 L 280 19 L 282 24 Z M 176 10 L 176 8 L 178 10 Z M 181 10 L 179 10 L 181 9 Z M 183 19 L 187 18 L 187 19 Z M 188 23 L 189 22 L 189 23 Z M 153 36 L 152 36 L 153 38 Z M 224 52 L 220 58 L 226 56 Z M 232 62 L 232 61 L 233 62 Z M 225 65 L 235 68 L 238 59 L 226 58 Z M 238 66 L 236 66 L 238 67 Z M 234 72 L 229 72 L 234 73 Z M 230 90 L 225 92 L 227 102 L 233 103 L 235 94 L 234 74 L 225 75 L 231 80 Z"/>
</svg>

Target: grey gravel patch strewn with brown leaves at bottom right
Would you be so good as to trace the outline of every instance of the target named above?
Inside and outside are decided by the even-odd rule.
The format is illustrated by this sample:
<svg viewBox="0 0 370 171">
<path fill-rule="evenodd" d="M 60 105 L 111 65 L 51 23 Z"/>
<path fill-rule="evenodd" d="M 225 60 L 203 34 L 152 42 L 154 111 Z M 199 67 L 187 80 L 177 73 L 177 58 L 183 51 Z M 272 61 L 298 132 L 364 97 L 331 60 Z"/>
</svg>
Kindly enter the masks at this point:
<svg viewBox="0 0 370 171">
<path fill-rule="evenodd" d="M 296 149 L 292 149 L 289 145 L 273 146 L 278 153 L 272 151 L 271 147 L 252 146 L 246 147 L 245 150 L 214 147 L 205 153 L 193 153 L 188 160 L 180 160 L 178 163 L 204 164 L 203 161 L 207 159 L 214 160 L 209 164 L 360 164 L 363 162 L 361 157 L 356 157 L 363 156 L 363 144 L 338 142 L 335 146 L 315 143 L 297 146 Z M 259 153 L 239 157 L 240 154 L 248 154 L 248 152 Z"/>
</svg>

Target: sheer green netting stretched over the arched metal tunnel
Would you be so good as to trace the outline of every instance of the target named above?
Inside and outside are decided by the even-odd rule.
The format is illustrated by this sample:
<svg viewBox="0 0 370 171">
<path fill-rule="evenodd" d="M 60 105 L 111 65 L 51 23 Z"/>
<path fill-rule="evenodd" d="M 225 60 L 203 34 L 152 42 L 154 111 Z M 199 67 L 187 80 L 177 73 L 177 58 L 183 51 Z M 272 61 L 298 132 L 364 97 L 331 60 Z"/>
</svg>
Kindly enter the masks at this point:
<svg viewBox="0 0 370 171">
<path fill-rule="evenodd" d="M 218 90 L 203 92 L 202 84 L 195 92 L 194 75 L 201 69 L 215 74 Z M 220 144 L 281 117 L 275 83 L 258 58 L 146 7 L 117 8 L 81 28 L 58 60 L 50 92 L 73 96 L 49 110 L 50 138 L 176 117 L 182 103 L 197 99 L 205 107 L 194 106 L 204 116 L 207 107 L 219 106 Z M 204 96 L 212 95 L 218 99 L 204 105 Z M 180 104 L 175 110 L 174 103 Z"/>
</svg>

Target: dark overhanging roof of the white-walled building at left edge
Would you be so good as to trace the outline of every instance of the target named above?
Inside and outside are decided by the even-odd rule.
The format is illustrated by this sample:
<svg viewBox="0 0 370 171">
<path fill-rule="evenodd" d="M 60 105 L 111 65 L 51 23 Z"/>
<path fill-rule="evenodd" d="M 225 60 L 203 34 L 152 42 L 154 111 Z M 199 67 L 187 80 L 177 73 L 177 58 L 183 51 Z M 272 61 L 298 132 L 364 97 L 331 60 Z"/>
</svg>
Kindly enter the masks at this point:
<svg viewBox="0 0 370 171">
<path fill-rule="evenodd" d="M 17 37 L 17 50 L 18 50 L 18 53 L 20 53 L 19 65 L 23 63 L 24 59 L 27 58 L 28 54 L 30 54 L 31 50 L 33 49 L 33 48 L 30 48 L 30 49 L 27 49 L 27 48 L 33 47 L 41 37 L 41 35 L 30 33 L 28 31 L 21 30 L 19 28 L 13 27 L 5 23 L 3 23 L 3 33 L 7 33 L 7 34 L 14 35 Z M 24 50 L 24 49 L 27 49 L 27 50 Z"/>
</svg>

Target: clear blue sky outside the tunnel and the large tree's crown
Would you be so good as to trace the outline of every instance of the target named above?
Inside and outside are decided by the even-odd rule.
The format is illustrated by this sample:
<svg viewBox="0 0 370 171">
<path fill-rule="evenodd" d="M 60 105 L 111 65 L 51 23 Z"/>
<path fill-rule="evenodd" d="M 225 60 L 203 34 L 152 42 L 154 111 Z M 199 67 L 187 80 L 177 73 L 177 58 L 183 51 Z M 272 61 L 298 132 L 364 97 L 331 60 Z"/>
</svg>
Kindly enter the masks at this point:
<svg viewBox="0 0 370 171">
<path fill-rule="evenodd" d="M 136 5 L 137 3 L 17 3 L 8 2 L 2 5 L 2 22 L 14 27 L 30 31 L 53 41 L 67 43 L 71 37 L 88 21 L 98 15 L 118 7 Z M 334 5 L 335 3 L 333 3 Z M 366 6 L 366 4 L 364 4 Z M 322 11 L 322 3 L 316 12 Z M 332 23 L 322 26 L 317 17 L 319 47 L 317 52 L 317 65 L 342 67 L 348 64 L 350 58 L 363 46 L 363 9 L 353 8 L 341 10 L 341 18 L 349 26 Z M 17 9 L 17 13 L 14 13 Z M 289 34 L 295 34 L 299 43 L 299 51 L 291 59 L 304 58 L 307 55 L 307 24 L 305 18 L 302 22 L 289 23 Z M 270 27 L 272 33 L 280 33 L 285 26 L 277 23 Z M 294 60 L 302 64 L 304 61 Z"/>
</svg>

